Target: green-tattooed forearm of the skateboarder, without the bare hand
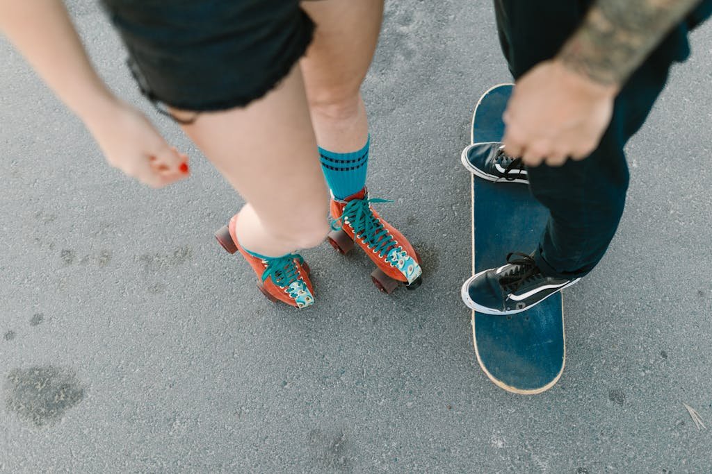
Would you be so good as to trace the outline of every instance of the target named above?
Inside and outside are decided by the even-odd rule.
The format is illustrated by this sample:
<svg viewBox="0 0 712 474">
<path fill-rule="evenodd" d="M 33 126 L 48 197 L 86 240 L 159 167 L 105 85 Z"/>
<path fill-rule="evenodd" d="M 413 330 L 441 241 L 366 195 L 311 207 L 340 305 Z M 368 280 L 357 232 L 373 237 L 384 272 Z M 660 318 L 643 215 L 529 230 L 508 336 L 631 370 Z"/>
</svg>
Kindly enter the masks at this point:
<svg viewBox="0 0 712 474">
<path fill-rule="evenodd" d="M 598 0 L 558 58 L 603 85 L 622 85 L 700 0 Z"/>
</svg>

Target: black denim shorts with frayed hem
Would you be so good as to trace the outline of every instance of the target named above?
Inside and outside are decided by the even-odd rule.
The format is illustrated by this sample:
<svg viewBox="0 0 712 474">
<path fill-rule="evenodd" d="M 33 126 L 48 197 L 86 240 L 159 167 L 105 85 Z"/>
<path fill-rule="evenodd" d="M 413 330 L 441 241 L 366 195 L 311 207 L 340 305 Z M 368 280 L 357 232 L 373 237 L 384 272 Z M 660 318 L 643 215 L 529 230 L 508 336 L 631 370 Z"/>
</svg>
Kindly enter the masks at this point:
<svg viewBox="0 0 712 474">
<path fill-rule="evenodd" d="M 305 53 L 314 24 L 296 0 L 103 0 L 143 94 L 192 111 L 243 107 Z"/>
</svg>

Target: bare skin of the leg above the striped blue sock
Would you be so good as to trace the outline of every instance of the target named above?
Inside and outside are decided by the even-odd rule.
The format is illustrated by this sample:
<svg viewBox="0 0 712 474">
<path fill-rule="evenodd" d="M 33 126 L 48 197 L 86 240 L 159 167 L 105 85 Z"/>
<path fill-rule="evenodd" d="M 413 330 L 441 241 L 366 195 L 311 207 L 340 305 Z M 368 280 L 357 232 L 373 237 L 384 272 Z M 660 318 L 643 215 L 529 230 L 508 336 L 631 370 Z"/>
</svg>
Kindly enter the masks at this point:
<svg viewBox="0 0 712 474">
<path fill-rule="evenodd" d="M 368 136 L 359 90 L 376 49 L 383 0 L 309 1 L 302 8 L 317 25 L 301 66 L 318 144 L 337 153 L 358 150 Z"/>
</svg>

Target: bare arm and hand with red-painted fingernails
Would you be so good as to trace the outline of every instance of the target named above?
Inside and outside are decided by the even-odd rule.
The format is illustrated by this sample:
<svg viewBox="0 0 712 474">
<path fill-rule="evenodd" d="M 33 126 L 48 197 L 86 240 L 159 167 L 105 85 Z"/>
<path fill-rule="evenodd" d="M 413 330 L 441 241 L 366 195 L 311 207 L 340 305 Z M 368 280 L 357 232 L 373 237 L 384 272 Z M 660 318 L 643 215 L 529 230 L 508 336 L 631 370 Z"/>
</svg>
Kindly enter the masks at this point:
<svg viewBox="0 0 712 474">
<path fill-rule="evenodd" d="M 188 176 L 187 156 L 104 85 L 61 0 L 0 0 L 0 31 L 83 120 L 112 166 L 155 188 Z"/>
</svg>

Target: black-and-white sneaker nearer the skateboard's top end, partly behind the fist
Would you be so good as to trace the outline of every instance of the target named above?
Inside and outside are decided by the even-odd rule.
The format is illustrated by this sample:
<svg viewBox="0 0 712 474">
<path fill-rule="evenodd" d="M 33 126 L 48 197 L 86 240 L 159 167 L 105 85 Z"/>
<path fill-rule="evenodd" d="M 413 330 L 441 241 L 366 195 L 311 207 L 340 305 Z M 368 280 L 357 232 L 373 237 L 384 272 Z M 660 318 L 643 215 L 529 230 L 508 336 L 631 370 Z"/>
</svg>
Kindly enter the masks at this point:
<svg viewBox="0 0 712 474">
<path fill-rule="evenodd" d="M 474 143 L 462 151 L 462 164 L 470 173 L 488 181 L 529 183 L 527 169 L 521 158 L 512 158 L 497 141 Z"/>
</svg>

